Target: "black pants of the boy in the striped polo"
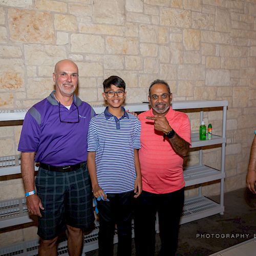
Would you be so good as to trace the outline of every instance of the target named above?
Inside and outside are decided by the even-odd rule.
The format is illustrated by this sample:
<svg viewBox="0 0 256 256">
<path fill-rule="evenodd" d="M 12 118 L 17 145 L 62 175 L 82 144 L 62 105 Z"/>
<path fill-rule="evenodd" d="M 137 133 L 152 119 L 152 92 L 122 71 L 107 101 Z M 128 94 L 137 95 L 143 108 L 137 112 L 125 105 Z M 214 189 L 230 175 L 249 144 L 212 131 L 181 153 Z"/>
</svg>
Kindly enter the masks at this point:
<svg viewBox="0 0 256 256">
<path fill-rule="evenodd" d="M 108 194 L 109 202 L 97 202 L 99 210 L 99 256 L 113 255 L 115 224 L 118 233 L 118 256 L 132 254 L 132 213 L 134 191 Z"/>
</svg>

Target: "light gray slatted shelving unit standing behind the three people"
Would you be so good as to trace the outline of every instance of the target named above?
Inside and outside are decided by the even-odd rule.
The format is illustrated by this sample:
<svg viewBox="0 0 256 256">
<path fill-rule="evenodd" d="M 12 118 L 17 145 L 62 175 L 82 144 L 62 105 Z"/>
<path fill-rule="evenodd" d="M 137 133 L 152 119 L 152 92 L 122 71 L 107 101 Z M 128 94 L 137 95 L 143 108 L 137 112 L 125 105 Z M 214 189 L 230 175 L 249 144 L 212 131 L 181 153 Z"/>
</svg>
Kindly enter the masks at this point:
<svg viewBox="0 0 256 256">
<path fill-rule="evenodd" d="M 184 169 L 184 179 L 187 186 L 202 184 L 214 180 L 221 180 L 220 188 L 220 204 L 203 197 L 202 188 L 199 186 L 199 195 L 194 198 L 188 198 L 185 200 L 183 214 L 181 218 L 181 224 L 205 218 L 215 214 L 223 214 L 224 212 L 224 179 L 225 179 L 225 144 L 226 144 L 226 113 L 228 102 L 226 100 L 196 100 L 196 101 L 173 101 L 172 106 L 174 110 L 186 110 L 197 109 L 200 111 L 200 123 L 203 120 L 204 109 L 208 108 L 222 108 L 223 120 L 222 120 L 222 136 L 213 135 L 211 140 L 200 141 L 199 134 L 191 134 L 191 147 L 199 149 L 199 163 L 196 166 L 189 166 Z M 150 107 L 147 103 L 135 103 L 124 105 L 125 109 L 129 109 L 134 112 L 142 112 L 148 110 Z M 102 113 L 105 109 L 103 105 L 93 106 L 96 114 Z M 0 111 L 0 121 L 15 121 L 23 120 L 27 110 L 8 110 Z M 221 144 L 221 170 L 217 170 L 203 164 L 203 147 L 208 145 Z M 37 169 L 36 169 L 37 170 Z M 0 176 L 13 175 L 20 173 L 20 157 L 9 156 L 0 157 Z M 0 202 L 0 228 L 5 228 L 13 225 L 20 225 L 33 221 L 33 217 L 28 215 L 26 199 L 18 198 L 15 200 Z M 156 224 L 158 229 L 158 224 Z M 98 228 L 92 231 L 90 234 L 84 237 L 84 252 L 97 249 L 98 245 Z M 115 237 L 115 242 L 117 238 Z M 37 242 L 26 242 L 27 247 L 35 248 L 37 250 Z M 3 250 L 0 248 L 0 255 L 3 255 L 4 250 L 8 253 L 16 253 L 17 255 L 23 255 L 26 248 L 23 248 L 25 244 L 15 247 L 6 247 Z M 60 244 L 59 252 L 63 255 L 68 255 L 65 252 L 67 247 L 66 242 Z M 64 248 L 64 249 L 63 249 Z M 33 249 L 30 249 L 32 254 L 24 255 L 36 255 L 33 254 Z M 20 251 L 20 253 L 18 253 Z M 3 254 L 2 254 L 3 253 Z M 16 255 L 15 254 L 15 255 Z M 12 254 L 10 254 L 12 255 Z"/>
</svg>

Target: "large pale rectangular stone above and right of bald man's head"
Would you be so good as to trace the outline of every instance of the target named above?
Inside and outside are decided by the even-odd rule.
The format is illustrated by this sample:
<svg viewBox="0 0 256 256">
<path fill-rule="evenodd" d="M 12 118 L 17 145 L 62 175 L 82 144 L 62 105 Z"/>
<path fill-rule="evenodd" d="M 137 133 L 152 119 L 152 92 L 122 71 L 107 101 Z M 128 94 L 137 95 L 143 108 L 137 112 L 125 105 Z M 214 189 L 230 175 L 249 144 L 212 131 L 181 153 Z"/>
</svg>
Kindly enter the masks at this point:
<svg viewBox="0 0 256 256">
<path fill-rule="evenodd" d="M 104 38 L 100 35 L 72 34 L 71 51 L 104 53 Z"/>
</svg>

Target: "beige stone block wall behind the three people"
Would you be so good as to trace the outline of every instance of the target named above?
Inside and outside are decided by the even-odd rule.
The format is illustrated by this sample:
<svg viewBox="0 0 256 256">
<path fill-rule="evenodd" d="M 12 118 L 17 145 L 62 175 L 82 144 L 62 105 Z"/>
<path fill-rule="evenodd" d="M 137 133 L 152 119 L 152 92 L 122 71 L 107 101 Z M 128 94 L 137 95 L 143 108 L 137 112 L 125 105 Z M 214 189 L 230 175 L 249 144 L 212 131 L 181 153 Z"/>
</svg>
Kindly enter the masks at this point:
<svg viewBox="0 0 256 256">
<path fill-rule="evenodd" d="M 110 75 L 125 80 L 127 103 L 147 101 L 148 84 L 165 79 L 174 100 L 228 100 L 225 190 L 245 187 L 256 129 L 255 18 L 254 0 L 1 1 L 0 110 L 29 108 L 48 96 L 63 58 L 77 63 L 79 96 L 91 104 L 103 103 L 102 81 Z M 199 113 L 188 115 L 198 131 Z M 204 121 L 221 133 L 221 112 Z M 18 154 L 20 130 L 0 124 L 0 156 Z M 220 168 L 220 159 L 214 147 L 203 162 Z M 197 162 L 196 151 L 185 159 Z M 0 200 L 24 195 L 20 179 L 1 177 L 0 185 Z M 219 183 L 203 193 L 219 194 Z M 0 233 L 1 243 L 27 239 L 25 230 L 9 232 L 10 240 Z"/>
</svg>

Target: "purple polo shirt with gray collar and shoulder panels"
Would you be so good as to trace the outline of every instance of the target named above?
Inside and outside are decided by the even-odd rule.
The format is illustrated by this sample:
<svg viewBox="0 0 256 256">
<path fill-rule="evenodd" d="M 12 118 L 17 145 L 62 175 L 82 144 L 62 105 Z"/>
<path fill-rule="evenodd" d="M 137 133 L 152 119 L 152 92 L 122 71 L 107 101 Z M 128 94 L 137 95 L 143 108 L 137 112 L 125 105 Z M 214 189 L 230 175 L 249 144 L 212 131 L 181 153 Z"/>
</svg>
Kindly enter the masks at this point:
<svg viewBox="0 0 256 256">
<path fill-rule="evenodd" d="M 35 162 L 54 166 L 87 161 L 87 134 L 95 112 L 76 95 L 68 110 L 59 105 L 54 93 L 29 109 L 23 122 L 18 151 L 36 152 Z M 76 123 L 63 123 L 60 119 Z"/>
</svg>

